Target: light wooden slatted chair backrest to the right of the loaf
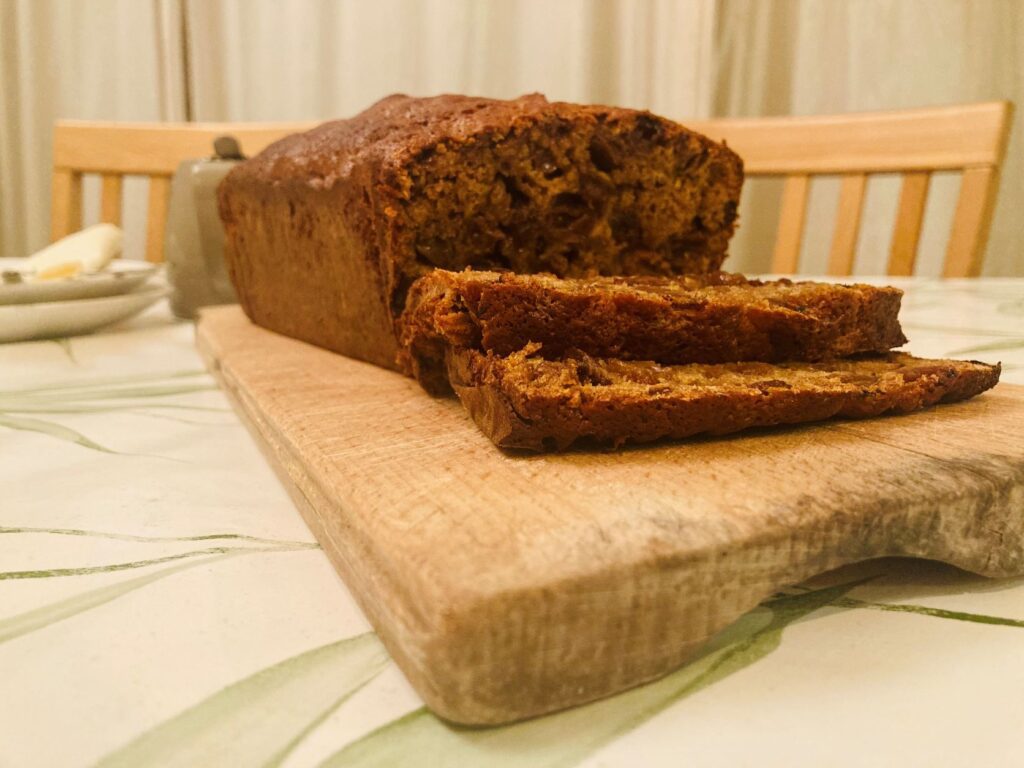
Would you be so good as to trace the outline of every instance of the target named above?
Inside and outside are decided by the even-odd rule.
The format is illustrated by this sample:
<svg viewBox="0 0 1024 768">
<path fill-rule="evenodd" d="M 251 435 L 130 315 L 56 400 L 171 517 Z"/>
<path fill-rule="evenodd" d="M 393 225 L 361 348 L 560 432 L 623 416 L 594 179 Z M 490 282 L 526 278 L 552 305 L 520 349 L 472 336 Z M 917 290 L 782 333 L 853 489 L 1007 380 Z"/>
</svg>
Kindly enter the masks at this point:
<svg viewBox="0 0 1024 768">
<path fill-rule="evenodd" d="M 977 276 L 985 252 L 1006 152 L 1009 101 L 815 117 L 687 121 L 724 139 L 743 158 L 749 176 L 783 176 L 772 271 L 797 271 L 812 176 L 842 179 L 828 257 L 829 274 L 850 274 L 867 177 L 902 175 L 889 274 L 911 274 L 928 186 L 935 171 L 961 171 L 956 212 L 943 274 Z"/>
</svg>

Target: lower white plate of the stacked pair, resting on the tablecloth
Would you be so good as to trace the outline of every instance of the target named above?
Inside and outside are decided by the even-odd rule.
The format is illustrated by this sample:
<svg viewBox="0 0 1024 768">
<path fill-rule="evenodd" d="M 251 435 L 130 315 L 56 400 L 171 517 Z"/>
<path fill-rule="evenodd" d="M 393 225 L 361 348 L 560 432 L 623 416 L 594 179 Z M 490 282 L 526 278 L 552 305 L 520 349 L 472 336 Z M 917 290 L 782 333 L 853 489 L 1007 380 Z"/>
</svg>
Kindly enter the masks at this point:
<svg viewBox="0 0 1024 768">
<path fill-rule="evenodd" d="M 156 287 L 99 299 L 0 306 L 0 342 L 87 334 L 137 314 L 169 293 Z"/>
</svg>

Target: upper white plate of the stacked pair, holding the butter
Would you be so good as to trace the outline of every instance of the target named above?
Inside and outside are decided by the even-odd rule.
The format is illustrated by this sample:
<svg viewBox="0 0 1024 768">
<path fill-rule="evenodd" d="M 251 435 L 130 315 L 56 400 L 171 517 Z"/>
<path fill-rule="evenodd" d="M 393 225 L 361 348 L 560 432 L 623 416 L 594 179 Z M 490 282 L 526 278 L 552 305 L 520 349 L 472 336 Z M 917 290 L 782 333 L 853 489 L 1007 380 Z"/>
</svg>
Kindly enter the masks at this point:
<svg viewBox="0 0 1024 768">
<path fill-rule="evenodd" d="M 18 271 L 24 266 L 25 259 L 0 258 L 0 271 Z M 157 269 L 156 264 L 147 264 L 144 261 L 118 260 L 109 264 L 102 271 L 68 280 L 0 282 L 0 305 L 117 296 L 142 285 Z"/>
</svg>

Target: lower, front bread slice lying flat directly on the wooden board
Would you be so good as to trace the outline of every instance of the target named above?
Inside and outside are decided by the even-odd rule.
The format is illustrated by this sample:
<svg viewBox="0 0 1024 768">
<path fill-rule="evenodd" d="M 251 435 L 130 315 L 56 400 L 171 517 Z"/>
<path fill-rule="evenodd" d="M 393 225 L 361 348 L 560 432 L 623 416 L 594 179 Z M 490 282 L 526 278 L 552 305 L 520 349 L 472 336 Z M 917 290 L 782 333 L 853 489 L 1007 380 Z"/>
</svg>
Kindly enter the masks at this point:
<svg viewBox="0 0 1024 768">
<path fill-rule="evenodd" d="M 998 366 L 898 352 L 829 362 L 660 366 L 582 353 L 548 360 L 539 351 L 531 344 L 508 356 L 449 352 L 456 393 L 501 447 L 563 450 L 578 440 L 617 446 L 907 413 L 972 397 L 999 378 Z"/>
</svg>

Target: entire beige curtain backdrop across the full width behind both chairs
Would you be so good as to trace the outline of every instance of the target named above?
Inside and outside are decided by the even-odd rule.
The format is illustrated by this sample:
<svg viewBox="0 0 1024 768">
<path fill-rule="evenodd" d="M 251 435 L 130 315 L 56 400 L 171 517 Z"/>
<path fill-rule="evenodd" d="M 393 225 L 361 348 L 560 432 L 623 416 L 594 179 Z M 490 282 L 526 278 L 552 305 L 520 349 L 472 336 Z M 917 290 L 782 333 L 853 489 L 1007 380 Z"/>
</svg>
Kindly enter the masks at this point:
<svg viewBox="0 0 1024 768">
<path fill-rule="evenodd" d="M 985 263 L 1024 274 L 1020 0 L 0 0 L 0 254 L 48 238 L 56 118 L 315 120 L 395 91 L 647 108 L 670 117 L 1021 106 Z M 778 190 L 749 183 L 730 267 L 766 269 Z M 955 178 L 933 185 L 937 273 Z M 857 269 L 884 270 L 896 183 L 870 184 Z M 836 184 L 817 183 L 804 271 L 821 271 Z M 129 255 L 144 200 L 129 184 Z M 86 186 L 86 221 L 97 211 Z"/>
</svg>

